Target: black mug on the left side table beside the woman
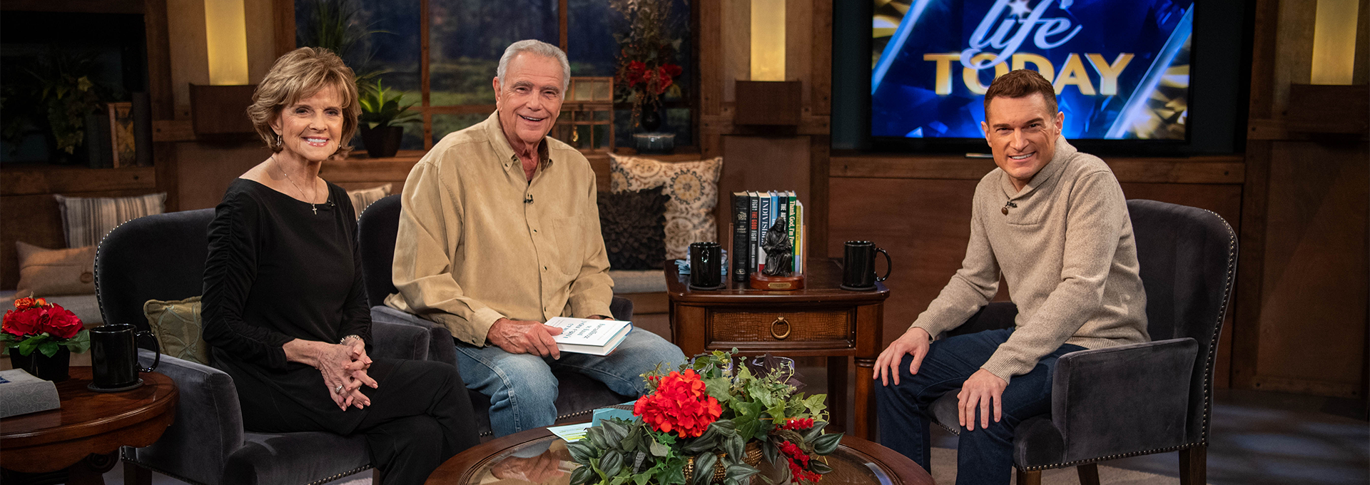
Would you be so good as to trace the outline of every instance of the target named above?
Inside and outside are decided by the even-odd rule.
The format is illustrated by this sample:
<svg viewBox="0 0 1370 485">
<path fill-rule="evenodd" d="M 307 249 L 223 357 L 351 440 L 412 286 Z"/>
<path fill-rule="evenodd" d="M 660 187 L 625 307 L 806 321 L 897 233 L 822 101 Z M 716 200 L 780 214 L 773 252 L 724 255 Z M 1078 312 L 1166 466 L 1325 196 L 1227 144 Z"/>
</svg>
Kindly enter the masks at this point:
<svg viewBox="0 0 1370 485">
<path fill-rule="evenodd" d="M 137 337 L 152 337 L 158 353 L 152 367 L 138 366 Z M 103 325 L 90 329 L 90 374 L 93 390 L 122 390 L 136 388 L 138 373 L 151 373 L 162 363 L 162 347 L 152 332 L 137 332 L 133 325 Z"/>
</svg>

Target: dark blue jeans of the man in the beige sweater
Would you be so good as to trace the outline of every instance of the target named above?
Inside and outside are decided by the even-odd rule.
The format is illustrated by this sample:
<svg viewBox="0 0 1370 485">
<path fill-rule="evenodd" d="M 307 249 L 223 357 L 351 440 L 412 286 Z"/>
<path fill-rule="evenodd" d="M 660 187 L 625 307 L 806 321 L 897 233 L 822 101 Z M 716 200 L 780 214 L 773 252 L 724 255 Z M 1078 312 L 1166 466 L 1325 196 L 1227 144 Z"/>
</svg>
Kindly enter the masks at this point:
<svg viewBox="0 0 1370 485">
<path fill-rule="evenodd" d="M 927 423 L 933 421 L 932 403 L 947 392 L 960 389 L 1008 340 L 1012 329 L 977 332 L 932 343 L 918 374 L 908 373 L 912 355 L 899 363 L 899 385 L 875 382 L 875 403 L 880 416 L 880 443 L 895 449 L 925 470 L 932 470 L 932 443 Z M 1051 412 L 1051 377 L 1056 359 L 1082 351 L 1080 345 L 1062 345 L 1037 362 L 1032 371 L 1010 380 L 1003 393 L 1001 419 L 989 416 L 989 427 L 975 430 L 960 427 L 956 452 L 956 484 L 1008 484 L 1014 467 L 1014 427 L 1023 419 Z M 466 369 L 462 369 L 466 375 Z M 991 407 L 993 410 L 993 407 Z M 993 412 L 993 411 L 991 411 Z M 956 422 L 943 423 L 956 426 Z"/>
</svg>

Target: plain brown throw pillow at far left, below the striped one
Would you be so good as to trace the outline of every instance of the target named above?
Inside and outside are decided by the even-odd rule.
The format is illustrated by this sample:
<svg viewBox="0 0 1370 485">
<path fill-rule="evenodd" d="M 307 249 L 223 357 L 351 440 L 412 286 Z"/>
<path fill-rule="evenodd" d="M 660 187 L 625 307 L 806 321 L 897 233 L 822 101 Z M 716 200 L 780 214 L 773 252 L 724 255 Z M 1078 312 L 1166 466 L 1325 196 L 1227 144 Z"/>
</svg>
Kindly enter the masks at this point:
<svg viewBox="0 0 1370 485">
<path fill-rule="evenodd" d="M 47 249 L 14 241 L 19 253 L 15 295 L 95 295 L 95 247 Z"/>
</svg>

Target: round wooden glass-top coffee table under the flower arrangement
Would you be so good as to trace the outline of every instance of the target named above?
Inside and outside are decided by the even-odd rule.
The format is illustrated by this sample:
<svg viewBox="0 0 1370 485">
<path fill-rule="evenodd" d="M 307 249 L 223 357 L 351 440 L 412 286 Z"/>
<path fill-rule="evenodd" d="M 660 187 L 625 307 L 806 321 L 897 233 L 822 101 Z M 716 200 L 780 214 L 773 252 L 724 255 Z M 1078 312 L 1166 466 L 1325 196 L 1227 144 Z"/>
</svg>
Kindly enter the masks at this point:
<svg viewBox="0 0 1370 485">
<path fill-rule="evenodd" d="M 833 471 L 823 484 L 933 485 L 933 477 L 917 463 L 878 444 L 847 436 L 837 452 L 827 456 Z M 427 485 L 526 485 L 570 482 L 571 462 L 566 441 L 547 427 L 495 438 L 473 447 L 443 463 Z M 762 473 L 775 477 L 775 467 L 766 460 Z M 760 480 L 756 484 L 762 484 Z"/>
</svg>

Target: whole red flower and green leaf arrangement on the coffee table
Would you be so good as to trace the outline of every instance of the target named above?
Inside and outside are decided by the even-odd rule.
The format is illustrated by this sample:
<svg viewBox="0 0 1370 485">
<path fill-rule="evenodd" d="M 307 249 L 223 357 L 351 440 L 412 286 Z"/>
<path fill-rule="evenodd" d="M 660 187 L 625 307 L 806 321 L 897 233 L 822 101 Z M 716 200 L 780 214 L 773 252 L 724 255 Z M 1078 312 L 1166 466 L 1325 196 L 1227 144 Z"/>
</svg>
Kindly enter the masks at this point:
<svg viewBox="0 0 1370 485">
<path fill-rule="evenodd" d="M 797 392 L 793 366 L 752 371 L 733 352 L 695 358 L 678 371 L 645 374 L 634 421 L 607 419 L 567 445 L 581 467 L 571 485 L 745 484 L 773 464 L 769 484 L 814 484 L 841 434 L 823 433 L 826 395 Z M 689 469 L 690 475 L 686 475 Z"/>
</svg>

